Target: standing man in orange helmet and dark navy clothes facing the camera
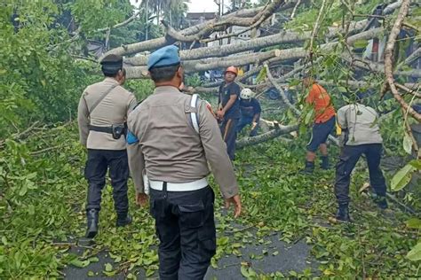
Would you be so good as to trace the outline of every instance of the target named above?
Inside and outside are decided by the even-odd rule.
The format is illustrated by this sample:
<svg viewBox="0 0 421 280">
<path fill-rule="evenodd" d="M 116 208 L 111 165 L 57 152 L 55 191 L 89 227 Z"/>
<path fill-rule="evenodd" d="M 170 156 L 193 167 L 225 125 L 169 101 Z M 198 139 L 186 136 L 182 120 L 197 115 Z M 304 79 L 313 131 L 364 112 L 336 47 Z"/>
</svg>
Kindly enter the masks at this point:
<svg viewBox="0 0 421 280">
<path fill-rule="evenodd" d="M 217 118 L 222 137 L 226 143 L 229 159 L 235 159 L 235 139 L 240 120 L 240 86 L 234 82 L 237 68 L 229 66 L 224 74 L 224 82 L 219 86 Z"/>
</svg>

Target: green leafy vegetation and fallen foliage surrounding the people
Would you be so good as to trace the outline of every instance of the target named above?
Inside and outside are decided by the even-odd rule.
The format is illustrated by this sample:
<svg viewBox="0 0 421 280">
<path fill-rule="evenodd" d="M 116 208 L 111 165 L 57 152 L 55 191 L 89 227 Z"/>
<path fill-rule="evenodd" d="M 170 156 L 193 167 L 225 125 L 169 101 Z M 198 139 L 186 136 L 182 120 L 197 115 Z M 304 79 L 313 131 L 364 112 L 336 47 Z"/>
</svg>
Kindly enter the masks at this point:
<svg viewBox="0 0 421 280">
<path fill-rule="evenodd" d="M 177 7 L 171 10 L 174 22 L 186 11 L 186 1 L 176 2 Z M 321 3 L 316 1 L 315 5 Z M 368 13 L 377 3 L 363 1 L 357 6 L 358 12 Z M 337 2 L 331 2 L 329 9 L 322 32 L 343 17 Z M 163 17 L 168 20 L 167 11 Z M 298 7 L 290 27 L 303 32 L 312 30 L 317 11 L 317 6 Z M 111 48 L 144 40 L 143 12 L 129 24 L 111 28 L 108 39 L 107 31 L 102 30 L 133 14 L 130 2 L 125 0 L 8 0 L 0 9 L 1 279 L 62 278 L 67 267 L 88 267 L 99 261 L 102 252 L 107 252 L 113 261 L 104 264 L 99 276 L 118 274 L 135 278 L 140 270 L 153 276 L 158 268 L 154 222 L 148 208 L 134 206 L 132 186 L 129 190 L 133 224 L 115 229 L 111 187 L 107 185 L 96 245 L 84 248 L 82 255 L 75 253 L 77 239 L 85 229 L 86 183 L 81 168 L 86 154 L 78 143 L 73 120 L 84 87 L 102 79 L 97 63 L 91 61 L 96 58 L 85 53 L 86 46 L 88 38 L 109 40 Z M 149 37 L 162 34 L 153 20 L 148 25 Z M 352 89 L 343 83 L 356 73 L 340 62 L 342 52 L 338 47 L 312 65 L 320 79 L 338 82 L 329 88 L 336 106 L 365 90 Z M 379 91 L 384 77 L 373 73 L 361 79 L 376 85 L 375 90 Z M 200 83 L 198 75 L 187 79 L 187 85 Z M 299 81 L 291 79 L 289 83 L 297 86 Z M 136 93 L 139 100 L 153 88 L 148 80 L 128 81 L 125 87 Z M 305 94 L 298 90 L 298 99 Z M 207 97 L 215 103 L 214 97 Z M 398 201 L 416 214 L 409 214 L 395 202 L 391 203 L 391 210 L 377 210 L 369 193 L 359 191 L 368 182 L 366 168 L 360 162 L 351 186 L 355 222 L 342 224 L 332 220 L 336 207 L 334 171 L 317 170 L 312 177 L 298 174 L 308 133 L 306 126 L 302 126 L 298 138 L 274 139 L 238 152 L 235 168 L 245 213 L 233 221 L 230 214 L 221 210 L 222 201 L 217 196 L 218 251 L 212 267 L 220 266 L 226 255 L 241 256 L 243 247 L 265 244 L 269 235 L 278 233 L 290 245 L 298 242 L 311 245 L 309 259 L 315 265 L 304 271 L 265 274 L 242 262 L 238 264 L 242 276 L 251 279 L 420 276 L 421 221 L 417 213 L 421 209 L 421 190 L 419 183 L 407 187 L 411 176 L 419 175 L 420 160 L 409 160 L 404 124 L 408 119 L 402 117 L 395 100 L 385 98 L 378 102 L 378 97 L 372 97 L 371 102 L 377 111 L 388 113 L 381 121 L 381 129 L 385 136 L 384 169 L 389 191 L 395 191 Z M 267 120 L 284 124 L 298 121 L 290 110 L 284 110 L 282 103 L 269 100 L 262 103 Z M 282 110 L 269 111 L 274 106 L 281 106 Z M 334 159 L 338 149 L 332 147 L 331 152 Z M 218 190 L 215 183 L 212 186 Z M 258 260 L 278 253 L 282 252 L 274 249 L 250 258 Z M 88 276 L 96 275 L 89 272 Z"/>
</svg>

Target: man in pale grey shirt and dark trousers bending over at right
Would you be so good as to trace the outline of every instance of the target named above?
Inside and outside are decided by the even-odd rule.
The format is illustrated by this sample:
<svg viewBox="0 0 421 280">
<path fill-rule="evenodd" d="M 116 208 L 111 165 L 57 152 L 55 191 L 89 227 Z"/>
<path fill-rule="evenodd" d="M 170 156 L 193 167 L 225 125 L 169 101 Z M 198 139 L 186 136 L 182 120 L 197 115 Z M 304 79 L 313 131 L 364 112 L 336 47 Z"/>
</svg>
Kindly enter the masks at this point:
<svg viewBox="0 0 421 280">
<path fill-rule="evenodd" d="M 336 167 L 335 194 L 338 199 L 336 218 L 340 221 L 350 221 L 349 184 L 353 167 L 361 154 L 365 155 L 369 166 L 369 182 L 374 191 L 374 200 L 381 209 L 387 208 L 385 177 L 379 167 L 383 140 L 377 118 L 373 108 L 361 103 L 345 105 L 338 110 L 338 124 L 342 128 L 339 139 L 343 148 Z"/>
</svg>

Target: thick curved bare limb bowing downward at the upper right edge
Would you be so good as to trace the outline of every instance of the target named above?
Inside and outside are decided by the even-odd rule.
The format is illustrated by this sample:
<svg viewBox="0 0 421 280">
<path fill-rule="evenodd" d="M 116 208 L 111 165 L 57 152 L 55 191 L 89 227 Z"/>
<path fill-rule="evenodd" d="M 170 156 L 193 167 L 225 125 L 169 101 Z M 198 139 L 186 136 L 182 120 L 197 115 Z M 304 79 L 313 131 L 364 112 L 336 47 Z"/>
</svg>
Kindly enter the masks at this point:
<svg viewBox="0 0 421 280">
<path fill-rule="evenodd" d="M 398 13 L 398 18 L 393 24 L 392 31 L 389 35 L 389 39 L 387 40 L 387 44 L 385 47 L 385 77 L 386 82 L 389 85 L 389 88 L 391 89 L 393 93 L 393 97 L 398 101 L 398 103 L 401 105 L 403 110 L 405 112 L 408 112 L 414 119 L 416 119 L 418 122 L 421 122 L 421 114 L 417 113 L 412 107 L 410 107 L 403 97 L 398 92 L 398 89 L 396 89 L 396 85 L 394 84 L 394 78 L 393 78 L 393 50 L 394 50 L 394 44 L 396 43 L 396 38 L 399 35 L 401 31 L 401 26 L 403 19 L 405 19 L 408 10 L 409 10 L 409 4 L 410 0 L 402 0 L 401 9 Z"/>
</svg>

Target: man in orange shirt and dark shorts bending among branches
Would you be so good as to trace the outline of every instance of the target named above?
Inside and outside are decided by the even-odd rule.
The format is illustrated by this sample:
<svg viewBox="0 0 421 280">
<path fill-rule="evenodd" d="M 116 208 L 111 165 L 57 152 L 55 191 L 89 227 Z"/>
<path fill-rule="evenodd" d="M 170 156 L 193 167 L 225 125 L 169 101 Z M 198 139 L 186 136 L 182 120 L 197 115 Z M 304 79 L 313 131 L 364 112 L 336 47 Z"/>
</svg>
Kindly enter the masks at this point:
<svg viewBox="0 0 421 280">
<path fill-rule="evenodd" d="M 310 89 L 306 97 L 306 103 L 313 106 L 315 115 L 312 137 L 307 144 L 306 167 L 302 172 L 312 174 L 317 149 L 320 149 L 322 153 L 322 169 L 329 169 L 330 167 L 326 140 L 335 127 L 335 108 L 326 89 L 315 82 L 313 77 L 307 75 L 303 80 L 303 85 Z"/>
</svg>

